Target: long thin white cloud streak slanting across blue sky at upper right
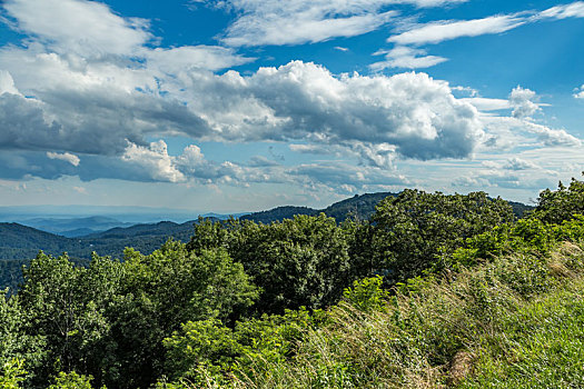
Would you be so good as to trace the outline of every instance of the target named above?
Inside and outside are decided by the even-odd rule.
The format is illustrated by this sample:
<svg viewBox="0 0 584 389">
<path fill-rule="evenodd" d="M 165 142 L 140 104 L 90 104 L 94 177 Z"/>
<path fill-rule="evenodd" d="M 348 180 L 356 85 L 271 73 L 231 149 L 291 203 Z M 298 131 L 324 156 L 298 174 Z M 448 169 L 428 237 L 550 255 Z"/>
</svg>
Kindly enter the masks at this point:
<svg viewBox="0 0 584 389">
<path fill-rule="evenodd" d="M 497 16 L 461 21 L 436 21 L 389 37 L 387 41 L 398 44 L 439 43 L 445 40 L 453 40 L 462 37 L 501 33 L 524 23 L 525 20 L 516 16 Z"/>
</svg>

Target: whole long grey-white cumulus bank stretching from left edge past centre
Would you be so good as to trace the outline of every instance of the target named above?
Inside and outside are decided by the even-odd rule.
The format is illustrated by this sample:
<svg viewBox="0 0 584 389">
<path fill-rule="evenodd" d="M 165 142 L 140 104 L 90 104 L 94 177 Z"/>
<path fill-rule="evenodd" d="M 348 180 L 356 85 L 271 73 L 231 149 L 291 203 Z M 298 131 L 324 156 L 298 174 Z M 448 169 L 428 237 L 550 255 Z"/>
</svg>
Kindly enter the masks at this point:
<svg viewBox="0 0 584 389">
<path fill-rule="evenodd" d="M 18 58 L 27 59 L 24 67 Z M 165 77 L 157 69 L 115 64 L 79 70 L 57 54 L 20 49 L 0 51 L 1 66 L 36 96 L 0 96 L 4 148 L 120 156 L 126 140 L 147 147 L 147 137 L 167 133 L 218 141 L 357 141 L 372 150 L 387 143 L 403 157 L 433 159 L 467 157 L 481 133 L 476 109 L 424 73 L 336 77 L 294 61 L 251 76 L 194 68 Z"/>
</svg>

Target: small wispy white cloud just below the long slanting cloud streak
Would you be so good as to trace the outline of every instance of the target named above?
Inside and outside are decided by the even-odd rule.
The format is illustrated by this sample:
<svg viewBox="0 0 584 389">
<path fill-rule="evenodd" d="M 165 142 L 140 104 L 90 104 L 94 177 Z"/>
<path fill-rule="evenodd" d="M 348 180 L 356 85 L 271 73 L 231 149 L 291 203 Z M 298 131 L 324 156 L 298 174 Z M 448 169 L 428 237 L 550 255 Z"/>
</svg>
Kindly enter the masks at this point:
<svg viewBox="0 0 584 389">
<path fill-rule="evenodd" d="M 448 60 L 443 57 L 426 56 L 425 50 L 413 49 L 405 46 L 398 46 L 388 51 L 378 51 L 377 53 L 385 53 L 385 61 L 372 63 L 369 68 L 374 71 L 380 71 L 387 68 L 432 68 Z"/>
</svg>

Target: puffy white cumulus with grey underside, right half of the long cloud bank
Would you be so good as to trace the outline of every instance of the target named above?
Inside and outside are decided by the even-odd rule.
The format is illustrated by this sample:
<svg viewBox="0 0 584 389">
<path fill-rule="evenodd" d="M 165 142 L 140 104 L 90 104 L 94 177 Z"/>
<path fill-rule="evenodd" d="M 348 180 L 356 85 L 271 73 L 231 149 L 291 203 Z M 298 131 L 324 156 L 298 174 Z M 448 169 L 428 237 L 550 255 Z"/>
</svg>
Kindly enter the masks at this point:
<svg viewBox="0 0 584 389">
<path fill-rule="evenodd" d="M 226 76 L 221 81 L 231 86 L 230 99 L 226 96 L 230 114 L 241 109 L 240 124 L 224 130 L 228 138 L 388 143 L 403 157 L 433 159 L 467 157 L 482 132 L 476 109 L 425 73 L 336 78 L 323 67 L 294 61 L 261 68 L 249 78 Z M 242 97 L 256 109 L 239 108 Z"/>
</svg>

